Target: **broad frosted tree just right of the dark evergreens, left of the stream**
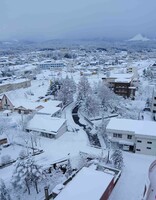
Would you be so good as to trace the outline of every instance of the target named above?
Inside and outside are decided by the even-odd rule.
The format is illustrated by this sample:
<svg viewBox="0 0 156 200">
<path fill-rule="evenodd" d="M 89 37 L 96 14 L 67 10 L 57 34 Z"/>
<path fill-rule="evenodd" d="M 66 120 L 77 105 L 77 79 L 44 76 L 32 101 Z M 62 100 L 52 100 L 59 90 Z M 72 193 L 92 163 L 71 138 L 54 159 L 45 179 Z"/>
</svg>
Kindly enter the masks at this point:
<svg viewBox="0 0 156 200">
<path fill-rule="evenodd" d="M 75 82 L 73 79 L 70 79 L 66 76 L 65 79 L 62 79 L 62 86 L 57 93 L 57 99 L 63 102 L 63 105 L 73 101 L 73 95 L 76 91 Z"/>
</svg>

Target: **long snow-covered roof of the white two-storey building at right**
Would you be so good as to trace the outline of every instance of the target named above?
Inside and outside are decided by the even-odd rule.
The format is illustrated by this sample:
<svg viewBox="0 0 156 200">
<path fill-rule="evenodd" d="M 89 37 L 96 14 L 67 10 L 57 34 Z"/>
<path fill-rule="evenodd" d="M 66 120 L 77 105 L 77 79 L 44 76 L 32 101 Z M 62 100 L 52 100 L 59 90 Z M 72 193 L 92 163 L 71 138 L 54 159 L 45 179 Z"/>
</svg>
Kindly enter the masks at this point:
<svg viewBox="0 0 156 200">
<path fill-rule="evenodd" d="M 109 130 L 126 131 L 135 135 L 156 137 L 156 123 L 152 121 L 112 118 L 107 125 L 107 131 Z"/>
</svg>

